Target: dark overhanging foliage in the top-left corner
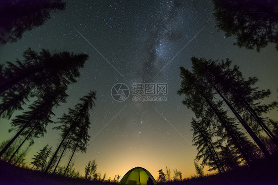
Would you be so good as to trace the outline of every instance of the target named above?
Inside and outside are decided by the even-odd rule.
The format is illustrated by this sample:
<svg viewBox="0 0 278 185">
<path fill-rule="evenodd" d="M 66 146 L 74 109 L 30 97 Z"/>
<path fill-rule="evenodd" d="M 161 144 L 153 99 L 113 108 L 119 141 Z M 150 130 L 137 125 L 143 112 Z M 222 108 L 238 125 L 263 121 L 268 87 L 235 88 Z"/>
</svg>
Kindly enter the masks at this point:
<svg viewBox="0 0 278 185">
<path fill-rule="evenodd" d="M 63 9 L 62 0 L 1 0 L 0 44 L 16 42 L 25 31 L 49 20 L 51 12 Z"/>
</svg>

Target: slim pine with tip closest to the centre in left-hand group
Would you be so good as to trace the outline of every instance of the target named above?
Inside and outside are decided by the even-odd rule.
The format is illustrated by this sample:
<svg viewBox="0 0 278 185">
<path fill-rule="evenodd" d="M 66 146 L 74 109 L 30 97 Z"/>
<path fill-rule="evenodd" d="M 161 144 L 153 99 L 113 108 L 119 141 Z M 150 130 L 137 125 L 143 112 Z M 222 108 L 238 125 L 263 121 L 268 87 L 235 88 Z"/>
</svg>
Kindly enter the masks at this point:
<svg viewBox="0 0 278 185">
<path fill-rule="evenodd" d="M 89 111 L 93 108 L 95 99 L 95 92 L 90 92 L 88 95 L 80 98 L 81 103 L 75 105 L 73 109 L 69 108 L 68 114 L 64 114 L 61 118 L 59 118 L 60 123 L 63 124 L 61 127 L 65 127 L 64 131 L 66 132 L 62 133 L 63 139 L 46 167 L 45 172 L 48 171 L 54 157 L 57 155 L 65 139 L 72 135 L 71 133 L 73 133 L 76 129 L 81 128 L 84 124 L 88 124 L 88 120 L 90 118 Z"/>
</svg>

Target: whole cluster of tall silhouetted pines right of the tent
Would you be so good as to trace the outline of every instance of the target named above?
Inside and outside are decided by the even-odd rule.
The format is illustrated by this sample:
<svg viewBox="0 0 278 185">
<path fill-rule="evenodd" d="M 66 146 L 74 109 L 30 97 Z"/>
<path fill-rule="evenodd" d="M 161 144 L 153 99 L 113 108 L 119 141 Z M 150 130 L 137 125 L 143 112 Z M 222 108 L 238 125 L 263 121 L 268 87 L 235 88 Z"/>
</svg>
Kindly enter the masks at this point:
<svg viewBox="0 0 278 185">
<path fill-rule="evenodd" d="M 185 95 L 183 103 L 196 116 L 191 122 L 196 160 L 219 173 L 251 166 L 258 158 L 271 160 L 278 148 L 278 123 L 265 113 L 278 103 L 263 104 L 270 90 L 254 87 L 258 79 L 244 79 L 229 59 L 192 57 L 191 62 L 191 71 L 180 68 L 178 93 Z"/>
</svg>

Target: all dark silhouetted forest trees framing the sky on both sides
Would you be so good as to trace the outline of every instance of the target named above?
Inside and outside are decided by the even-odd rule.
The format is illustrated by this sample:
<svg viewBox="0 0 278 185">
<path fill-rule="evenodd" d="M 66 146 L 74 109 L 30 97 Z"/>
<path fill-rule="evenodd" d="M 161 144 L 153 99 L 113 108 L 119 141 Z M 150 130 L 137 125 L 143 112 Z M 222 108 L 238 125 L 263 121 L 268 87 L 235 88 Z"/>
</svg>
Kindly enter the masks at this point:
<svg viewBox="0 0 278 185">
<path fill-rule="evenodd" d="M 270 43 L 278 49 L 278 1 L 212 0 L 216 27 L 228 37 L 235 37 L 239 47 L 264 48 Z M 0 44 L 16 42 L 25 31 L 44 24 L 53 12 L 65 9 L 62 0 L 2 0 L 0 2 Z M 16 11 L 15 11 L 16 10 Z M 28 48 L 23 60 L 0 65 L 0 117 L 11 119 L 11 139 L 1 142 L 0 159 L 18 166 L 24 163 L 34 139 L 44 137 L 53 124 L 53 109 L 66 102 L 68 86 L 76 83 L 89 55 L 68 51 L 40 52 Z M 243 78 L 243 71 L 230 59 L 214 61 L 192 57 L 192 70 L 180 68 L 182 83 L 178 94 L 195 117 L 191 122 L 197 156 L 196 173 L 204 176 L 204 166 L 225 173 L 239 166 L 252 166 L 257 159 L 271 163 L 278 150 L 278 123 L 266 114 L 276 110 L 276 101 L 264 104 L 270 90 L 255 85 L 256 77 Z M 86 152 L 90 136 L 90 111 L 95 107 L 96 92 L 90 91 L 68 109 L 53 129 L 60 131 L 56 148 L 46 144 L 32 158 L 30 168 L 66 177 L 80 178 L 73 157 Z M 18 113 L 19 112 L 19 113 Z M 23 147 L 25 146 L 25 148 Z M 66 153 L 70 157 L 60 165 Z M 85 166 L 84 179 L 118 182 L 119 175 L 105 180 L 96 171 L 95 160 Z M 180 181 L 182 172 L 158 171 L 158 182 Z"/>
</svg>

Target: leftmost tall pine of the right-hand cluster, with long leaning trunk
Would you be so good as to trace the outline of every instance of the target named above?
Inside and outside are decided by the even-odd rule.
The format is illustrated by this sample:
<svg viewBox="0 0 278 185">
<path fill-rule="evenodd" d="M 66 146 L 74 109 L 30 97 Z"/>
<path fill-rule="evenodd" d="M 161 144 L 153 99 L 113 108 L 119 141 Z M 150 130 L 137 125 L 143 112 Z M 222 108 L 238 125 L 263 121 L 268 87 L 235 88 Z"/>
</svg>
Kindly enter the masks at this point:
<svg viewBox="0 0 278 185">
<path fill-rule="evenodd" d="M 222 102 L 215 102 L 214 93 L 211 86 L 205 86 L 202 82 L 198 81 L 199 77 L 185 70 L 181 67 L 181 77 L 183 79 L 179 94 L 185 94 L 185 100 L 183 103 L 190 108 L 198 118 L 202 111 L 208 107 L 213 110 L 215 116 L 218 118 L 218 122 L 225 128 L 227 136 L 232 138 L 233 144 L 239 149 L 243 158 L 249 164 L 253 158 L 252 152 L 249 151 L 250 147 L 246 147 L 250 144 L 246 138 L 242 138 L 241 132 L 235 129 L 236 126 L 229 118 L 227 112 L 222 107 Z"/>
</svg>

